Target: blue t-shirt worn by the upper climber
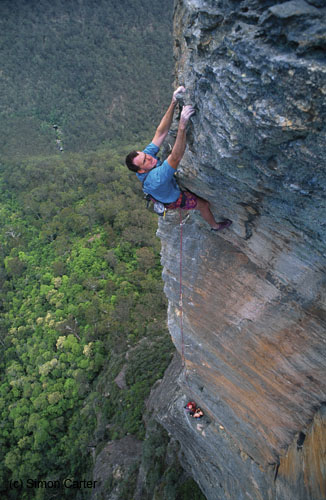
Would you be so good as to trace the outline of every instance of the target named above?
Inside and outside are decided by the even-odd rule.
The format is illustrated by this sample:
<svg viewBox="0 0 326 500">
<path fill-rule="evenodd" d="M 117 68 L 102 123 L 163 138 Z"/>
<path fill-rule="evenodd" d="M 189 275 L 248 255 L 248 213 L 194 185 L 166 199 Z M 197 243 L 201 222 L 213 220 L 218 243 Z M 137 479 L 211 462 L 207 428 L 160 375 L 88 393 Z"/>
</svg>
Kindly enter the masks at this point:
<svg viewBox="0 0 326 500">
<path fill-rule="evenodd" d="M 151 142 L 143 150 L 143 153 L 157 158 L 156 155 L 159 150 L 160 148 Z M 161 201 L 162 203 L 173 203 L 179 198 L 181 193 L 174 177 L 175 169 L 168 164 L 167 160 L 163 163 L 158 158 L 157 160 L 155 168 L 148 173 L 136 175 L 141 182 L 143 182 L 144 178 L 147 176 L 143 185 L 145 193 L 150 194 L 155 200 Z"/>
</svg>

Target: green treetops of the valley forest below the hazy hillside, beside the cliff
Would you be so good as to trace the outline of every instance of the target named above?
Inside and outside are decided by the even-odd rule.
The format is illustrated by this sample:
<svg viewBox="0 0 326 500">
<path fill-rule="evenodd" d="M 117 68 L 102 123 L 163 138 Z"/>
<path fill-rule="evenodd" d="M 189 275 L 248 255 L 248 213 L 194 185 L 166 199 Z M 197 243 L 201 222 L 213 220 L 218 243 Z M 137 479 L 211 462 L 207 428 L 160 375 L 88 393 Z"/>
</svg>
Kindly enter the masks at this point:
<svg viewBox="0 0 326 500">
<path fill-rule="evenodd" d="M 2 165 L 1 484 L 77 480 L 90 445 L 144 438 L 173 349 L 156 217 L 120 154 Z"/>
</svg>

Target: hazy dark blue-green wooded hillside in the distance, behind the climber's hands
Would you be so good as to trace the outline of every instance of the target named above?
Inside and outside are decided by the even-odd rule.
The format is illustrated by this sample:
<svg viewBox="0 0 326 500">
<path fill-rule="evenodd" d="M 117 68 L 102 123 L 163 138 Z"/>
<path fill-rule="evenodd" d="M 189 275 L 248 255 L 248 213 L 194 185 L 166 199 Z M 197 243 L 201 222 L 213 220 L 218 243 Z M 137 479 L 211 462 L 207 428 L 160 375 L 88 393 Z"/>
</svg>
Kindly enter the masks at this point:
<svg viewBox="0 0 326 500">
<path fill-rule="evenodd" d="M 153 129 L 172 89 L 173 0 L 1 0 L 0 153 L 86 151 Z M 145 49 L 144 49 L 145 47 Z"/>
</svg>

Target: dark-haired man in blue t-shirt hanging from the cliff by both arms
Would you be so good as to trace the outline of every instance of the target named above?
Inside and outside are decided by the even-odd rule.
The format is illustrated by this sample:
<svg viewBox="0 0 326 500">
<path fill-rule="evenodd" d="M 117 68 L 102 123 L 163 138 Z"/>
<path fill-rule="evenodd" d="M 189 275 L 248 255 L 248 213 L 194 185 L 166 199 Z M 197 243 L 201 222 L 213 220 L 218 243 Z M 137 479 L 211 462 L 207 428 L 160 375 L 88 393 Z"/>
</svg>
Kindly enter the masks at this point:
<svg viewBox="0 0 326 500">
<path fill-rule="evenodd" d="M 186 149 L 186 129 L 189 118 L 195 113 L 193 106 L 184 106 L 182 109 L 175 144 L 167 160 L 162 163 L 156 156 L 170 130 L 177 94 L 185 90 L 184 87 L 175 90 L 171 104 L 157 127 L 152 142 L 143 151 L 131 151 L 126 157 L 126 164 L 129 170 L 137 173 L 138 179 L 143 183 L 143 190 L 155 201 L 163 203 L 167 210 L 197 209 L 213 231 L 220 231 L 228 228 L 232 221 L 225 219 L 216 222 L 209 202 L 189 191 L 181 192 L 174 176 Z"/>
</svg>

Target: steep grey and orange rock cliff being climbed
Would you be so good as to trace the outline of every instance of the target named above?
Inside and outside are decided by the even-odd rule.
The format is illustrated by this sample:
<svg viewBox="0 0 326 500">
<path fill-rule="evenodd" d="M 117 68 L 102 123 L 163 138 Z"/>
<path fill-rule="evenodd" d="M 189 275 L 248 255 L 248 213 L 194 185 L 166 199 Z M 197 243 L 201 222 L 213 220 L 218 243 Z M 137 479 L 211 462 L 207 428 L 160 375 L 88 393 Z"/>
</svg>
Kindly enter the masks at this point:
<svg viewBox="0 0 326 500">
<path fill-rule="evenodd" d="M 158 418 L 208 499 L 325 499 L 325 2 L 180 0 L 174 33 L 180 183 L 233 225 L 184 220 L 182 342 L 179 214 L 160 220 L 186 368 Z"/>
</svg>

